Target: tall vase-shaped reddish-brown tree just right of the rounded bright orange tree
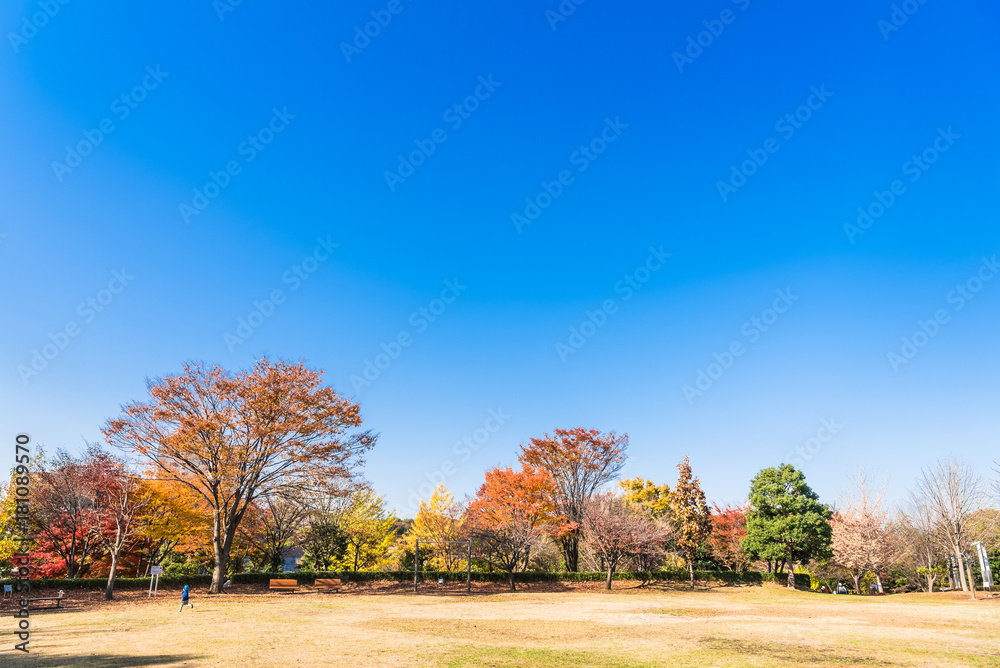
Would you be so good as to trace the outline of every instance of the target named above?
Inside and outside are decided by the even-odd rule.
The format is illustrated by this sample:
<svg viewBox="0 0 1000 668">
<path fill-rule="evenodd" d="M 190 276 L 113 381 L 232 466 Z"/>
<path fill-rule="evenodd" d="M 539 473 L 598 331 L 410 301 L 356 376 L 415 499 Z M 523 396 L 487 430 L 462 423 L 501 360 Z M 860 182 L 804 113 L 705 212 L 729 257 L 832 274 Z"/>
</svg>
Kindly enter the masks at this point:
<svg viewBox="0 0 1000 668">
<path fill-rule="evenodd" d="M 580 527 L 587 503 L 621 472 L 627 448 L 628 434 L 580 427 L 556 429 L 554 436 L 546 434 L 521 446 L 521 463 L 546 471 L 555 484 L 556 508 L 568 522 L 559 536 L 568 571 L 579 570 Z"/>
</svg>

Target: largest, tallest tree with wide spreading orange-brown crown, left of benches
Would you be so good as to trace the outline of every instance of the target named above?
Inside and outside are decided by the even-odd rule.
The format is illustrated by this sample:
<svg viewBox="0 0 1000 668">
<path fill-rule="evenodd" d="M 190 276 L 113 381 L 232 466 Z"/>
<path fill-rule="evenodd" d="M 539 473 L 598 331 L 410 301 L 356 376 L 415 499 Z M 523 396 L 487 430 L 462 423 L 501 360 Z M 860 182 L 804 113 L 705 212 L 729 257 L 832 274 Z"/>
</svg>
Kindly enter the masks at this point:
<svg viewBox="0 0 1000 668">
<path fill-rule="evenodd" d="M 260 496 L 311 481 L 349 478 L 375 443 L 360 406 L 321 385 L 303 363 L 258 360 L 245 371 L 186 364 L 148 383 L 150 399 L 108 420 L 108 442 L 131 449 L 158 478 L 187 485 L 212 511 L 215 569 L 221 593 L 237 529 Z"/>
</svg>

